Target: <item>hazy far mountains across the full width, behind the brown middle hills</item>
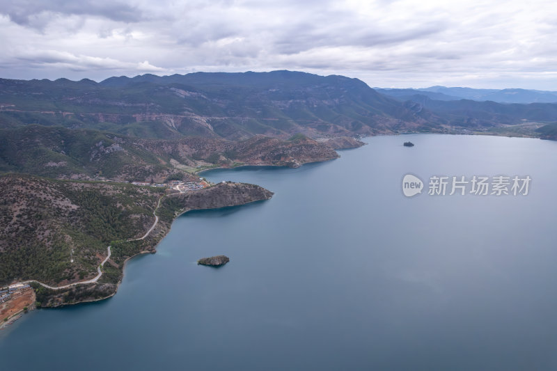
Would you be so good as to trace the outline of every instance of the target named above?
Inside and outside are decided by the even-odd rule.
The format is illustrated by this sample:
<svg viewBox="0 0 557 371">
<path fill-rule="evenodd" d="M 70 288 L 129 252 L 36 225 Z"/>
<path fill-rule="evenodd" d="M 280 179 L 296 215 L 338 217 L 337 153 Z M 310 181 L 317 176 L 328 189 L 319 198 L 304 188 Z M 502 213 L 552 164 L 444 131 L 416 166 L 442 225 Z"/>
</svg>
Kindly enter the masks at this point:
<svg viewBox="0 0 557 371">
<path fill-rule="evenodd" d="M 285 70 L 143 74 L 100 83 L 0 79 L 0 128 L 38 124 L 148 139 L 198 136 L 244 141 L 256 135 L 330 139 L 485 132 L 555 120 L 557 103 L 480 100 L 496 95 L 552 100 L 554 93 L 443 86 L 376 91 L 359 79 Z M 539 136 L 534 131 L 526 135 Z"/>
</svg>

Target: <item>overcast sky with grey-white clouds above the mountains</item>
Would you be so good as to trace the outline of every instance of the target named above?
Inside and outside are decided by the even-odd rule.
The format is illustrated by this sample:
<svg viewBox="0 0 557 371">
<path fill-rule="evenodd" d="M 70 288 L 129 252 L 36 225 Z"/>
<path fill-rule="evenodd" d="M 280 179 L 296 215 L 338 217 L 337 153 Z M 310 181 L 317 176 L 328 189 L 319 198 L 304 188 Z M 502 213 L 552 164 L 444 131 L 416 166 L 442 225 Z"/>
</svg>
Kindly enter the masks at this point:
<svg viewBox="0 0 557 371">
<path fill-rule="evenodd" d="M 557 90 L 557 3 L 0 0 L 0 77 L 300 70 Z"/>
</svg>

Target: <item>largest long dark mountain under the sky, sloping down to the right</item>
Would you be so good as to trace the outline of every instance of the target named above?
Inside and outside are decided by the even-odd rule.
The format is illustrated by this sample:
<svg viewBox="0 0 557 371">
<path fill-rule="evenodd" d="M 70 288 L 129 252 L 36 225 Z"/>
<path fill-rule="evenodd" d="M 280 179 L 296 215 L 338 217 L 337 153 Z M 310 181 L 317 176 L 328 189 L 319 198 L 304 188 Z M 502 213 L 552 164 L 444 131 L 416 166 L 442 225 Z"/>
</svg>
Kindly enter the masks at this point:
<svg viewBox="0 0 557 371">
<path fill-rule="evenodd" d="M 432 129 L 442 120 L 358 79 L 274 71 L 117 77 L 97 84 L 0 79 L 0 125 L 37 123 L 128 136 L 288 139 Z"/>
</svg>

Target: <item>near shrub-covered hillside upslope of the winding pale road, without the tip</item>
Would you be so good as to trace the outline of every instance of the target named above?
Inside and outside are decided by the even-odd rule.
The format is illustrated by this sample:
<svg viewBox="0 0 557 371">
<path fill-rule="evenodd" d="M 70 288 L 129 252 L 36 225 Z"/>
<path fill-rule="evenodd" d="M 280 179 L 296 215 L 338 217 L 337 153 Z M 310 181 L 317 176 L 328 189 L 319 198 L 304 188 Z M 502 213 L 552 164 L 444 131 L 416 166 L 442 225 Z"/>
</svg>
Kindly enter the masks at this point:
<svg viewBox="0 0 557 371">
<path fill-rule="evenodd" d="M 148 230 L 164 194 L 152 187 L 31 175 L 3 175 L 0 187 L 0 284 L 93 278 L 111 241 Z"/>
</svg>

